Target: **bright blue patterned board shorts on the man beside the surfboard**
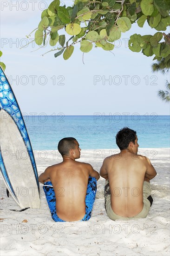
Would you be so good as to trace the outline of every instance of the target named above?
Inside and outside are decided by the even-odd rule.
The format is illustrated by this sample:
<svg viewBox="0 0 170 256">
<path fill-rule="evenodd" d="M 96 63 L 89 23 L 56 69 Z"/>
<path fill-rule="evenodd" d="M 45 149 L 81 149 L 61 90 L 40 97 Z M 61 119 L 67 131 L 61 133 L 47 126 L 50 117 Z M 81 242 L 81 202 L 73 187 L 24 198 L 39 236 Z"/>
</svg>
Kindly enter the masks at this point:
<svg viewBox="0 0 170 256">
<path fill-rule="evenodd" d="M 46 201 L 48 203 L 49 209 L 52 214 L 52 219 L 55 222 L 65 222 L 61 220 L 56 213 L 56 197 L 55 197 L 54 189 L 52 187 L 52 182 L 45 182 L 43 189 L 46 195 Z M 89 176 L 87 192 L 85 196 L 85 216 L 80 221 L 88 221 L 90 219 L 92 214 L 93 203 L 96 196 L 96 191 L 97 191 L 97 180 L 96 178 Z"/>
</svg>

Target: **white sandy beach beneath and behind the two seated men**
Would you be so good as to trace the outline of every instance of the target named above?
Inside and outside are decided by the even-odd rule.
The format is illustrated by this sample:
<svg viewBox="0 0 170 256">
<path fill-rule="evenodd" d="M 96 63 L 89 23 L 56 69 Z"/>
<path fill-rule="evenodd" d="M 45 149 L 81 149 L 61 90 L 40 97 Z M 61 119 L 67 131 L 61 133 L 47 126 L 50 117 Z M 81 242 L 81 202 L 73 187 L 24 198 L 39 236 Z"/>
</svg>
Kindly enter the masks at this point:
<svg viewBox="0 0 170 256">
<path fill-rule="evenodd" d="M 98 180 L 98 191 L 92 217 L 87 222 L 54 222 L 40 185 L 40 209 L 19 209 L 12 197 L 7 197 L 5 185 L 0 180 L 0 246 L 1 256 L 41 255 L 118 255 L 162 256 L 170 253 L 170 166 L 169 148 L 139 149 L 150 158 L 157 176 L 150 182 L 154 202 L 145 219 L 112 221 L 105 212 L 104 183 Z M 116 149 L 82 150 L 81 162 L 91 163 L 99 171 L 102 162 Z M 54 151 L 35 152 L 38 173 L 49 165 L 61 162 Z M 27 220 L 27 222 L 23 222 Z"/>
</svg>

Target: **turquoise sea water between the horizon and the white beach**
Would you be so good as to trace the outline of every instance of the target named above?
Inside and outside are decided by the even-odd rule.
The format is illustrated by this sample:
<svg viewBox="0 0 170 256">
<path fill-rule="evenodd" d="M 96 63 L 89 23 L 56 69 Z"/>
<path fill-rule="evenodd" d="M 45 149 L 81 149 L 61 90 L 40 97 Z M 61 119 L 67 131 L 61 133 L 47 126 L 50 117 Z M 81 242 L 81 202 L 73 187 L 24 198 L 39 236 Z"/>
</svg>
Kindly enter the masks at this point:
<svg viewBox="0 0 170 256">
<path fill-rule="evenodd" d="M 118 148 L 115 136 L 119 129 L 137 131 L 141 148 L 170 147 L 169 115 L 58 115 L 24 116 L 33 150 L 57 149 L 60 139 L 74 137 L 80 148 Z"/>
</svg>

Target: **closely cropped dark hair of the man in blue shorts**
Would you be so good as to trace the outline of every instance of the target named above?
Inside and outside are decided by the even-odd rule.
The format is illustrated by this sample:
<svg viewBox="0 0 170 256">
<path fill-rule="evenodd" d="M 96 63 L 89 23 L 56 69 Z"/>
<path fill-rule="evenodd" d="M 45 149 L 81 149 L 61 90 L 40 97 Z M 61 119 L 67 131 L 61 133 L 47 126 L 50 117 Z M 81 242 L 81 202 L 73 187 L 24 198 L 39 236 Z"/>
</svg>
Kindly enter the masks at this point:
<svg viewBox="0 0 170 256">
<path fill-rule="evenodd" d="M 59 141 L 58 150 L 61 155 L 69 155 L 70 149 L 74 149 L 76 146 L 76 139 L 72 137 L 63 138 Z"/>
</svg>

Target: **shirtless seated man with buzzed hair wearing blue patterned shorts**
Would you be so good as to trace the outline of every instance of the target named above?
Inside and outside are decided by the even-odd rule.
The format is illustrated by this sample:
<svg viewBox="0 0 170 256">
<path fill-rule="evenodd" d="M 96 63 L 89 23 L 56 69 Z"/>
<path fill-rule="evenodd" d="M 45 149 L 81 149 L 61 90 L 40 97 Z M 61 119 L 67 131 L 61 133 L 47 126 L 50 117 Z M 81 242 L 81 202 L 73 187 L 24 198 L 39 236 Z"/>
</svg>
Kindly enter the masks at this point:
<svg viewBox="0 0 170 256">
<path fill-rule="evenodd" d="M 81 151 L 76 139 L 60 140 L 58 150 L 63 162 L 46 168 L 39 175 L 52 219 L 56 222 L 87 221 L 91 217 L 100 175 L 90 164 L 75 161 Z"/>
</svg>

